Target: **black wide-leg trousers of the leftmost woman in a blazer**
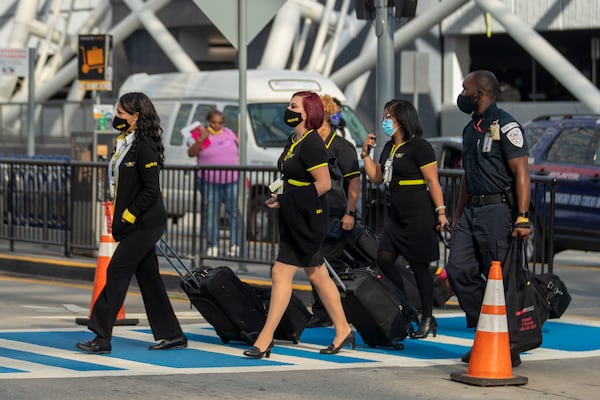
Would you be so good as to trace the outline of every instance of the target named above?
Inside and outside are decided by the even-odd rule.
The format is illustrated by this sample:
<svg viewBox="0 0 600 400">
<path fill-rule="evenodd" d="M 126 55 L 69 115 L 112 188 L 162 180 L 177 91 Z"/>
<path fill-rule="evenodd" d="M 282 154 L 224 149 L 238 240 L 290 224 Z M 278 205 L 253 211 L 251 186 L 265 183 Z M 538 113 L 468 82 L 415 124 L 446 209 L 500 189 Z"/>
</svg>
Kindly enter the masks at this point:
<svg viewBox="0 0 600 400">
<path fill-rule="evenodd" d="M 92 332 L 102 338 L 112 337 L 117 314 L 135 274 L 154 339 L 183 334 L 159 274 L 154 244 L 163 232 L 163 227 L 138 229 L 119 242 L 108 265 L 106 285 L 92 308 L 88 323 Z"/>
</svg>

